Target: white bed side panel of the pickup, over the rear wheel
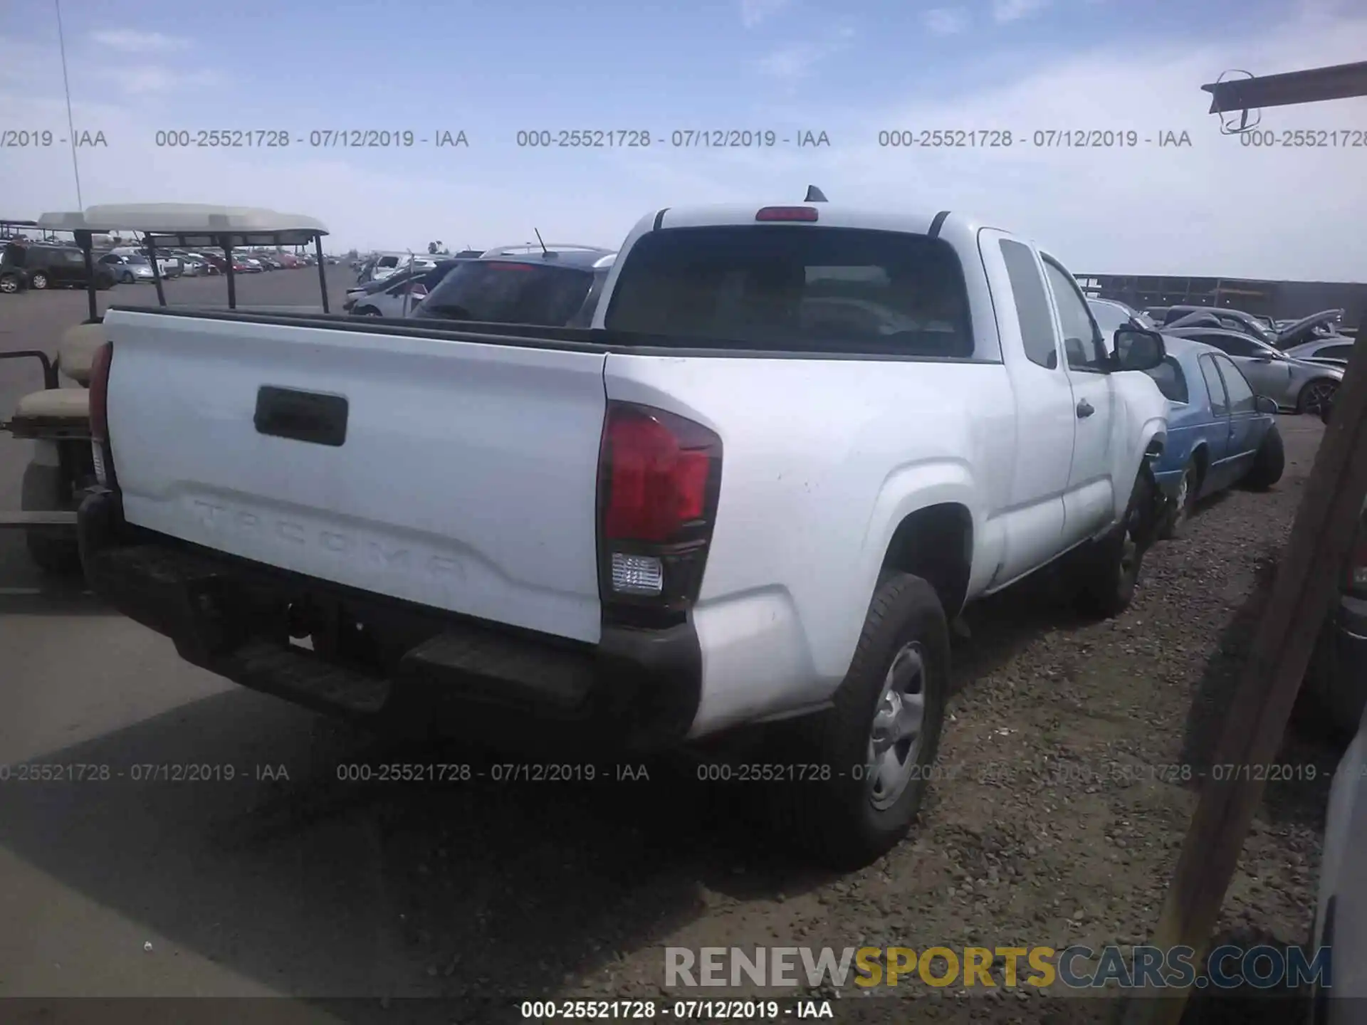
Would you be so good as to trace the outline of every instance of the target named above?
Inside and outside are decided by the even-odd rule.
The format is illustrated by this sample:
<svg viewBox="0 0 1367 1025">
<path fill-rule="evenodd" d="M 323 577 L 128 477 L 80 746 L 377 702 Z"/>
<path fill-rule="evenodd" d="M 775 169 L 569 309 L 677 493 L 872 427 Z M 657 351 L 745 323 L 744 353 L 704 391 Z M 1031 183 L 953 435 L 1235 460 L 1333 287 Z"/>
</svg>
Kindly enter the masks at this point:
<svg viewBox="0 0 1367 1025">
<path fill-rule="evenodd" d="M 694 733 L 830 697 L 893 532 L 915 508 L 965 506 L 975 575 L 995 564 L 984 538 L 1014 450 L 999 364 L 612 354 L 606 383 L 610 399 L 722 437 L 694 608 L 704 652 Z"/>
</svg>

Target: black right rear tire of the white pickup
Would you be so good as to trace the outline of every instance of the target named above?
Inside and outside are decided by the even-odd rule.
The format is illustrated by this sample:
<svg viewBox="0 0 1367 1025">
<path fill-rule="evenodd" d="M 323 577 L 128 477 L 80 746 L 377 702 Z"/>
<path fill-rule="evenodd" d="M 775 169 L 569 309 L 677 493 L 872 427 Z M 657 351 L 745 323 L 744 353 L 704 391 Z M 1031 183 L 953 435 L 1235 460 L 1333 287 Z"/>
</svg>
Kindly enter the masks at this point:
<svg viewBox="0 0 1367 1025">
<path fill-rule="evenodd" d="M 913 739 L 889 745 L 905 779 L 878 798 L 869 765 L 875 712 L 884 704 L 894 679 L 894 663 L 919 667 L 920 728 Z M 884 573 L 869 603 L 849 671 L 835 692 L 834 705 L 793 724 L 789 749 L 794 763 L 828 767 L 827 779 L 793 782 L 778 802 L 785 836 L 837 869 L 854 869 L 891 850 L 910 830 L 925 795 L 931 765 L 939 748 L 949 696 L 949 625 L 939 596 L 920 577 Z M 910 676 L 902 676 L 910 679 Z M 895 702 L 902 708 L 901 698 Z M 887 709 L 894 708 L 893 702 Z"/>
</svg>

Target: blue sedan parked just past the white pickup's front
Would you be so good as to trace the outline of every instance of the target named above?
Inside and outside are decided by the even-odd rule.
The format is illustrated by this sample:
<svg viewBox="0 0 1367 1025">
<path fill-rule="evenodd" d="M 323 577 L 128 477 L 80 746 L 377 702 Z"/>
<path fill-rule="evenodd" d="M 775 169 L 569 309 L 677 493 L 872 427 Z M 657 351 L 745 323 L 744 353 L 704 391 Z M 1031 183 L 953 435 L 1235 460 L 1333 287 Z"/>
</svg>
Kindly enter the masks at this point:
<svg viewBox="0 0 1367 1025">
<path fill-rule="evenodd" d="M 1263 491 L 1285 467 L 1277 403 L 1255 395 L 1214 346 L 1163 335 L 1167 358 L 1148 374 L 1167 398 L 1167 446 L 1155 466 L 1173 499 L 1163 536 L 1176 537 L 1199 499 L 1244 484 Z"/>
</svg>

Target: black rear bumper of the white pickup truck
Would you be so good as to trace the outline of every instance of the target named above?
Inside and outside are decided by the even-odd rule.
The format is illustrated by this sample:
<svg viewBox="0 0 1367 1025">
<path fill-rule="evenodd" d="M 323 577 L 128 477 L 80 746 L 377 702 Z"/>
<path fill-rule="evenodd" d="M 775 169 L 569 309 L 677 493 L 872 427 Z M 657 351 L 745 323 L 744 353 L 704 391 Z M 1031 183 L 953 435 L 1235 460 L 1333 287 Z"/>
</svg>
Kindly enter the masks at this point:
<svg viewBox="0 0 1367 1025">
<path fill-rule="evenodd" d="M 697 715 L 690 620 L 604 626 L 596 645 L 507 630 L 128 528 L 108 492 L 85 500 L 78 534 L 90 589 L 186 661 L 319 711 L 539 752 L 667 748 Z M 290 644 L 299 610 L 365 629 L 335 646 L 314 633 L 339 652 L 324 657 Z"/>
</svg>

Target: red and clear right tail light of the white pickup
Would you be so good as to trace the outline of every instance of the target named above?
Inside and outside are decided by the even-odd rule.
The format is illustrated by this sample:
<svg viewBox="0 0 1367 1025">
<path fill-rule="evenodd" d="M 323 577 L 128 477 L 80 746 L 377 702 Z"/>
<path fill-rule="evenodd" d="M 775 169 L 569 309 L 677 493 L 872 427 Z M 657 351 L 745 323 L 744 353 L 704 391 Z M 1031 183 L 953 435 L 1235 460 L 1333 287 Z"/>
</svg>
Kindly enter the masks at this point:
<svg viewBox="0 0 1367 1025">
<path fill-rule="evenodd" d="M 599 450 L 606 610 L 681 616 L 697 600 L 722 484 L 722 439 L 692 420 L 608 402 Z"/>
</svg>

